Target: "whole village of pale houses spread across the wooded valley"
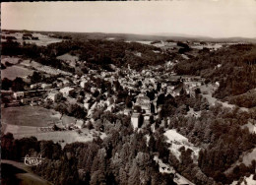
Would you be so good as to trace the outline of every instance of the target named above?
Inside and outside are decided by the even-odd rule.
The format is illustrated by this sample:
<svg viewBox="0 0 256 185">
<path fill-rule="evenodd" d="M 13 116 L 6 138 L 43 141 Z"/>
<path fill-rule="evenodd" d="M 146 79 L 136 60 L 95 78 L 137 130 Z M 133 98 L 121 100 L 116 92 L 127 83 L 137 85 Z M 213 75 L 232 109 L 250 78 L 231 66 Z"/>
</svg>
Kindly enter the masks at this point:
<svg viewBox="0 0 256 185">
<path fill-rule="evenodd" d="M 70 62 L 71 61 L 67 61 Z M 79 61 L 76 61 L 79 63 Z M 166 62 L 168 68 L 170 62 Z M 89 123 L 94 125 L 94 113 L 101 109 L 131 117 L 134 130 L 145 127 L 159 118 L 161 106 L 157 104 L 160 94 L 179 95 L 181 89 L 195 96 L 196 90 L 204 85 L 204 79 L 192 76 L 177 76 L 151 69 L 137 72 L 128 68 L 116 68 L 113 72 L 90 70 L 83 76 L 62 74 L 52 84 L 30 83 L 31 77 L 24 77 L 27 84 L 23 92 L 2 91 L 3 97 L 10 99 L 3 107 L 15 105 L 56 107 L 60 102 L 76 104 L 84 111 L 76 123 L 63 125 L 55 123 L 55 129 L 81 129 Z M 41 75 L 45 74 L 38 71 Z M 123 76 L 120 76 L 123 74 Z M 108 86 L 108 87 L 106 87 Z M 122 95 L 123 92 L 128 94 Z M 127 96 L 129 98 L 127 98 Z"/>
</svg>

